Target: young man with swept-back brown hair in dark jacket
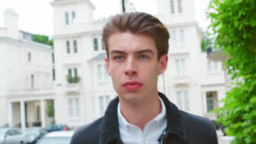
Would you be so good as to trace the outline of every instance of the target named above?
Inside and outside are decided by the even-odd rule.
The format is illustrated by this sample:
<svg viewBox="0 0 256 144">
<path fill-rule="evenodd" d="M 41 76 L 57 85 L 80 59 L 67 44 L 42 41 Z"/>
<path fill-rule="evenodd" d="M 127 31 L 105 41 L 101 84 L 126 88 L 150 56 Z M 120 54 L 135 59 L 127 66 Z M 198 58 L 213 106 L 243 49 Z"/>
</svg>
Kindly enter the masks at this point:
<svg viewBox="0 0 256 144">
<path fill-rule="evenodd" d="M 158 92 L 168 61 L 167 28 L 146 13 L 114 17 L 103 28 L 106 70 L 119 97 L 105 115 L 77 130 L 82 143 L 218 143 L 210 119 L 179 111 Z"/>
</svg>

